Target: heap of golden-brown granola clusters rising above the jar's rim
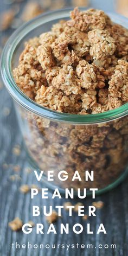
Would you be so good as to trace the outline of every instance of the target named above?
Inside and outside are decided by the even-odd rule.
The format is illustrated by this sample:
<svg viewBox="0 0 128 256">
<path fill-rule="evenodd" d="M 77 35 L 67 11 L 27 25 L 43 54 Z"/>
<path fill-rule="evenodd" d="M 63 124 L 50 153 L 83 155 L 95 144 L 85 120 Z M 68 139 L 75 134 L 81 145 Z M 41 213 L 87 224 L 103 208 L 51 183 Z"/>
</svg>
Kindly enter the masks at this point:
<svg viewBox="0 0 128 256">
<path fill-rule="evenodd" d="M 104 11 L 71 12 L 71 20 L 25 44 L 14 78 L 36 103 L 94 114 L 127 103 L 128 31 Z"/>
</svg>

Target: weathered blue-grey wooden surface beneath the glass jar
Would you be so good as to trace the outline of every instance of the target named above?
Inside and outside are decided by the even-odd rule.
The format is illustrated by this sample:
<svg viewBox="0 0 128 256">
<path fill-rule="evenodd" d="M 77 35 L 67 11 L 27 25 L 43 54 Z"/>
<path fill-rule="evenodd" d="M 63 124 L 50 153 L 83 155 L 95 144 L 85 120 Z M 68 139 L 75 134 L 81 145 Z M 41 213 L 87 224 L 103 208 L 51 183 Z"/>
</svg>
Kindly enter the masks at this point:
<svg viewBox="0 0 128 256">
<path fill-rule="evenodd" d="M 95 1 L 96 2 L 96 1 Z M 97 1 L 98 2 L 98 1 Z M 99 1 L 101 2 L 101 1 Z M 103 1 L 102 1 L 103 2 Z M 111 6 L 112 1 L 107 1 L 107 9 Z M 7 8 L 7 5 L 1 1 L 1 11 Z M 22 3 L 23 5 L 23 3 Z M 100 6 L 101 7 L 101 6 Z M 112 7 L 112 6 L 111 6 Z M 8 31 L 10 34 L 10 31 Z M 5 34 L 7 35 L 7 34 Z M 1 38 L 2 40 L 2 38 Z M 103 209 L 98 210 L 96 217 L 90 217 L 87 222 L 91 223 L 91 228 L 94 234 L 87 235 L 84 232 L 81 235 L 76 235 L 72 232 L 69 234 L 60 235 L 59 227 L 60 223 L 68 223 L 70 227 L 75 223 L 82 223 L 86 228 L 86 222 L 81 221 L 80 217 L 74 213 L 73 217 L 68 217 L 67 212 L 63 214 L 62 219 L 56 222 L 55 227 L 58 234 L 39 234 L 36 235 L 35 227 L 33 233 L 25 235 L 20 232 L 11 232 L 8 227 L 8 222 L 15 217 L 20 217 L 23 222 L 33 220 L 35 223 L 40 222 L 44 224 L 44 230 L 48 228 L 48 224 L 43 214 L 40 217 L 32 217 L 31 208 L 34 204 L 43 206 L 43 204 L 55 206 L 56 204 L 62 205 L 65 201 L 62 200 L 41 200 L 40 196 L 34 200 L 30 200 L 30 193 L 24 195 L 20 193 L 19 187 L 21 184 L 37 184 L 33 172 L 27 174 L 25 168 L 29 166 L 25 150 L 23 148 L 23 142 L 21 133 L 17 124 L 16 114 L 12 100 L 5 90 L 0 90 L 0 256 L 127 256 L 128 255 L 128 179 L 126 179 L 116 189 L 110 191 L 107 194 L 98 196 L 97 200 L 101 200 L 105 203 Z M 10 113 L 9 113 L 10 110 Z M 21 155 L 16 156 L 12 153 L 12 148 L 15 145 L 21 145 Z M 6 164 L 8 167 L 6 167 Z M 15 172 L 13 167 L 20 165 L 21 170 Z M 17 174 L 21 177 L 15 181 L 10 180 L 11 175 Z M 39 185 L 39 184 L 37 184 Z M 40 184 L 43 186 L 43 184 Z M 49 192 L 49 196 L 50 196 Z M 75 200 L 74 200 L 75 201 Z M 88 206 L 91 204 L 92 199 L 88 198 L 84 201 L 84 204 Z M 96 235 L 95 231 L 99 223 L 103 222 L 106 228 L 106 235 Z M 43 244 L 93 244 L 93 249 L 12 249 L 11 244 L 14 242 L 18 244 L 27 244 L 28 241 L 31 245 Z M 98 244 L 117 244 L 117 249 L 99 249 Z M 96 248 L 95 248 L 96 247 Z"/>
</svg>

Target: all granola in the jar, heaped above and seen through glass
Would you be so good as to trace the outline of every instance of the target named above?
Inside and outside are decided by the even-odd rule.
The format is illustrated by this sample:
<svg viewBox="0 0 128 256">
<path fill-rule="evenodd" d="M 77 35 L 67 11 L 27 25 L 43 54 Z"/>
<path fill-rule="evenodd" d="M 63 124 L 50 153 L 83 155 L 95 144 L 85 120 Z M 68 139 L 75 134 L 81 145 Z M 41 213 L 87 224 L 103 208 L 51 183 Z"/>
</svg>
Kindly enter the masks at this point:
<svg viewBox="0 0 128 256">
<path fill-rule="evenodd" d="M 95 114 L 128 101 L 128 31 L 101 10 L 81 12 L 25 43 L 14 78 L 37 104 L 72 114 Z M 38 117 L 22 108 L 25 141 L 41 170 L 56 170 L 56 184 L 104 188 L 127 164 L 128 118 L 73 125 Z M 57 181 L 57 170 L 94 170 L 94 182 Z M 47 175 L 47 172 L 46 172 Z M 84 175 L 84 173 L 83 173 Z M 83 179 L 84 180 L 84 179 Z"/>
</svg>

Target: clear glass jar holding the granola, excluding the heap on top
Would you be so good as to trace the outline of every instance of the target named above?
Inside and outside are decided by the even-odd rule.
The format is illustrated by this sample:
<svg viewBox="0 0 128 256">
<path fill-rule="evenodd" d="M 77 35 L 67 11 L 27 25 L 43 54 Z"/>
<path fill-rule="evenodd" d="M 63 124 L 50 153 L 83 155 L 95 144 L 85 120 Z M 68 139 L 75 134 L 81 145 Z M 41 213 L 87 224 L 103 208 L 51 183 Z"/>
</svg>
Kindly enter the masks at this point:
<svg viewBox="0 0 128 256">
<path fill-rule="evenodd" d="M 12 69 L 18 65 L 24 42 L 49 31 L 59 20 L 69 18 L 69 9 L 49 12 L 22 25 L 4 47 L 1 61 L 2 78 L 15 100 L 15 107 L 26 149 L 34 169 L 54 170 L 49 187 L 98 188 L 98 193 L 119 184 L 127 174 L 128 104 L 115 110 L 88 115 L 59 113 L 40 105 L 17 87 Z M 113 22 L 128 28 L 126 18 L 108 14 Z M 68 172 L 61 182 L 60 170 Z M 72 181 L 78 170 L 82 181 Z M 94 181 L 85 181 L 85 170 L 94 170 Z M 46 178 L 47 181 L 47 178 Z"/>
</svg>

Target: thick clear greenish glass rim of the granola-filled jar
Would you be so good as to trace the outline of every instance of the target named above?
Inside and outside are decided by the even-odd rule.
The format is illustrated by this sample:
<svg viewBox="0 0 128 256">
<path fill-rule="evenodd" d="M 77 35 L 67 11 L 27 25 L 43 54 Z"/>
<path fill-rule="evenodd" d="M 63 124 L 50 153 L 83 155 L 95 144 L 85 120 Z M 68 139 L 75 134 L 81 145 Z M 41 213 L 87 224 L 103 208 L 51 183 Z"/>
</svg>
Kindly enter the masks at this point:
<svg viewBox="0 0 128 256">
<path fill-rule="evenodd" d="M 85 8 L 80 8 L 85 9 Z M 11 63 L 12 56 L 15 52 L 17 45 L 23 39 L 25 35 L 27 35 L 30 31 L 39 27 L 41 24 L 45 24 L 48 21 L 54 21 L 56 18 L 68 18 L 69 11 L 72 8 L 60 9 L 56 11 L 49 11 L 45 14 L 41 14 L 40 16 L 35 17 L 33 20 L 24 23 L 20 28 L 18 28 L 9 38 L 8 42 L 5 44 L 5 47 L 1 56 L 1 74 L 5 87 L 7 87 L 9 93 L 12 98 L 17 101 L 18 104 L 23 106 L 25 109 L 29 110 L 37 114 L 38 116 L 49 118 L 55 121 L 64 121 L 66 123 L 71 124 L 97 124 L 97 123 L 105 123 L 107 121 L 111 121 L 114 119 L 118 119 L 124 117 L 128 114 L 128 103 L 110 111 L 106 111 L 98 114 L 70 114 L 70 113 L 61 113 L 57 111 L 50 110 L 49 108 L 43 107 L 35 101 L 25 95 L 21 89 L 16 85 L 16 82 L 12 75 Z M 126 28 L 128 28 L 128 19 L 111 12 L 106 12 L 113 21 L 119 24 L 126 24 Z M 125 27 L 125 26 L 124 26 Z M 42 31 L 43 32 L 43 31 Z"/>
</svg>

